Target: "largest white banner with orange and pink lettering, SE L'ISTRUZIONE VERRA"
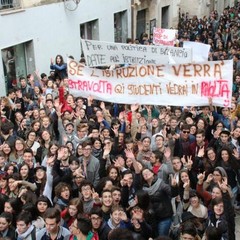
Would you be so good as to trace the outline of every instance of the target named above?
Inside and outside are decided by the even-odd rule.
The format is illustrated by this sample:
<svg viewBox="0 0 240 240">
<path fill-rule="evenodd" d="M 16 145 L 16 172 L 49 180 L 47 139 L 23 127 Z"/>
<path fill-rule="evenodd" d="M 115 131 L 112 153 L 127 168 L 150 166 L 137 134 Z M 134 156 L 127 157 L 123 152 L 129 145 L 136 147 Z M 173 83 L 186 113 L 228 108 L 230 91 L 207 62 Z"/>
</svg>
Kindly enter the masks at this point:
<svg viewBox="0 0 240 240">
<path fill-rule="evenodd" d="M 178 65 L 88 68 L 68 60 L 69 92 L 122 104 L 231 106 L 232 60 Z"/>
</svg>

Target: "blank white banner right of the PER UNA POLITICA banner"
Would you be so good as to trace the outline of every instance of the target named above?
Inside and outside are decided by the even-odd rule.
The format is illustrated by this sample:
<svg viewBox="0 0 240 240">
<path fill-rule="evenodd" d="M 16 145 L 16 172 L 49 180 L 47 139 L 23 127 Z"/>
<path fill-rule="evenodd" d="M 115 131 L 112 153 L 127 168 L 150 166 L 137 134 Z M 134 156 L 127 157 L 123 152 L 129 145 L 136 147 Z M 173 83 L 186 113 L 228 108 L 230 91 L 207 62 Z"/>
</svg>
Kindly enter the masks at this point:
<svg viewBox="0 0 240 240">
<path fill-rule="evenodd" d="M 209 44 L 184 41 L 183 47 L 192 49 L 192 59 L 194 62 L 205 62 L 208 60 L 208 54 L 211 47 Z"/>
</svg>

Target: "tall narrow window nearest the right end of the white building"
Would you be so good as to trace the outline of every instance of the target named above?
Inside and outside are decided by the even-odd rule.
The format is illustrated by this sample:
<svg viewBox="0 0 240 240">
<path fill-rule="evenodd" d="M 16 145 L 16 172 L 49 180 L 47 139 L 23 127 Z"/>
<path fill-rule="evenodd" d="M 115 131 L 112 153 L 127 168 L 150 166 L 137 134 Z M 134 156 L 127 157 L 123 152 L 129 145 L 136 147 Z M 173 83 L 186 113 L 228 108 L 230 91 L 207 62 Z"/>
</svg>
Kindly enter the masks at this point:
<svg viewBox="0 0 240 240">
<path fill-rule="evenodd" d="M 114 14 L 114 40 L 121 43 L 127 40 L 127 11 Z"/>
</svg>

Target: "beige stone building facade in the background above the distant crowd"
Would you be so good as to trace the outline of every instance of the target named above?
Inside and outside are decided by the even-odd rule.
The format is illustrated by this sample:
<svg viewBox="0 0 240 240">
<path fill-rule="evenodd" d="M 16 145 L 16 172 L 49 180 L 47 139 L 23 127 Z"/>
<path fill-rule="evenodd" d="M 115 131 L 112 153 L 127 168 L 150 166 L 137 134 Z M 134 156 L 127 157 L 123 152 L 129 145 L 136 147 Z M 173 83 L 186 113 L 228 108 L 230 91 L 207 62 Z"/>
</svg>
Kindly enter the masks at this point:
<svg viewBox="0 0 240 240">
<path fill-rule="evenodd" d="M 225 7 L 232 7 L 234 2 L 235 0 L 132 0 L 132 36 L 139 38 L 143 32 L 151 34 L 154 27 L 176 29 L 181 13 L 188 13 L 189 17 L 209 16 L 211 11 L 222 12 Z"/>
</svg>

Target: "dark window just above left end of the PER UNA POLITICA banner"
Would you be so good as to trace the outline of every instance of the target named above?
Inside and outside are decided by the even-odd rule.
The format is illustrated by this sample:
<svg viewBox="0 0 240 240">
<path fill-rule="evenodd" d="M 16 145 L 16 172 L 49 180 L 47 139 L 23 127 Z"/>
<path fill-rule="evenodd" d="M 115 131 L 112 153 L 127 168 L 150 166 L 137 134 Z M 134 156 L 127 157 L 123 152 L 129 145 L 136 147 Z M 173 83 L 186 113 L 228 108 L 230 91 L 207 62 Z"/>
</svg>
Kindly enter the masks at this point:
<svg viewBox="0 0 240 240">
<path fill-rule="evenodd" d="M 80 35 L 82 39 L 98 40 L 99 39 L 98 20 L 82 23 L 80 25 Z"/>
</svg>

